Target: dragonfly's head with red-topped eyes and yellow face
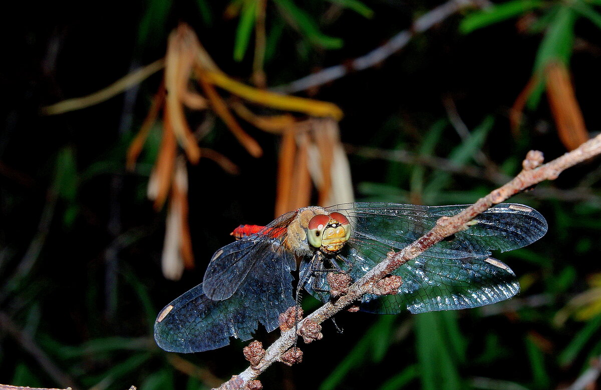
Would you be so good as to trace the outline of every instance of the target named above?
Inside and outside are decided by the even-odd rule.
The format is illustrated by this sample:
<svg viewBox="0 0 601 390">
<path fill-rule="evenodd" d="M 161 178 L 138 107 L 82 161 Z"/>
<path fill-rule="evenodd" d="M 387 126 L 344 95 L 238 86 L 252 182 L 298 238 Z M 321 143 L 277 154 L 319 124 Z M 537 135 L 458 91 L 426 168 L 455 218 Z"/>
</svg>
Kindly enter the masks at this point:
<svg viewBox="0 0 601 390">
<path fill-rule="evenodd" d="M 307 241 L 313 248 L 335 253 L 343 248 L 350 237 L 350 222 L 341 213 L 318 214 L 307 227 Z"/>
</svg>

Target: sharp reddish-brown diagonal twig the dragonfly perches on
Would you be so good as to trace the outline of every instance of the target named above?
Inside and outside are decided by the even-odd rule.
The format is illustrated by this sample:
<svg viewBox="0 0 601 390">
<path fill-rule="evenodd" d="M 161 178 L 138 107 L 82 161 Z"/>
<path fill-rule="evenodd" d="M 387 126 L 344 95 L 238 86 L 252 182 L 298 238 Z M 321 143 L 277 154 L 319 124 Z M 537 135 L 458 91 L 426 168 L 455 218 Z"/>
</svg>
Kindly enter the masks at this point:
<svg viewBox="0 0 601 390">
<path fill-rule="evenodd" d="M 352 284 L 349 287 L 347 294 L 338 297 L 335 302 L 326 302 L 323 306 L 302 320 L 299 323 L 298 328 L 303 328 L 305 323 L 308 323 L 309 321 L 312 324 L 320 324 L 327 318 L 332 317 L 337 312 L 346 308 L 346 306 L 355 302 L 355 300 L 359 299 L 363 294 L 373 290 L 377 282 L 407 261 L 417 257 L 445 237 L 464 230 L 469 221 L 489 209 L 489 207 L 494 204 L 501 203 L 512 195 L 515 195 L 534 184 L 540 183 L 541 181 L 554 180 L 565 169 L 590 159 L 597 154 L 601 154 L 601 135 L 585 142 L 585 144 L 582 144 L 575 150 L 566 153 L 545 165 L 541 165 L 543 156 L 540 151 L 529 151 L 526 155 L 526 159 L 523 160 L 522 171 L 514 177 L 513 180 L 509 181 L 504 186 L 493 190 L 489 195 L 486 195 L 486 197 L 480 198 L 475 204 L 469 206 L 458 215 L 439 219 L 432 230 L 412 244 L 403 248 L 401 251 L 396 253 L 391 252 L 382 263 L 377 264 L 376 267 L 365 273 L 361 279 L 358 279 L 358 281 Z M 266 355 L 260 364 L 246 368 L 245 371 L 232 377 L 228 382 L 225 382 L 220 389 L 228 388 L 233 382 L 236 382 L 237 385 L 240 383 L 243 385 L 249 380 L 255 379 L 273 362 L 281 361 L 282 355 L 294 345 L 296 338 L 297 334 L 294 329 L 284 332 L 278 340 L 266 350 Z"/>
</svg>

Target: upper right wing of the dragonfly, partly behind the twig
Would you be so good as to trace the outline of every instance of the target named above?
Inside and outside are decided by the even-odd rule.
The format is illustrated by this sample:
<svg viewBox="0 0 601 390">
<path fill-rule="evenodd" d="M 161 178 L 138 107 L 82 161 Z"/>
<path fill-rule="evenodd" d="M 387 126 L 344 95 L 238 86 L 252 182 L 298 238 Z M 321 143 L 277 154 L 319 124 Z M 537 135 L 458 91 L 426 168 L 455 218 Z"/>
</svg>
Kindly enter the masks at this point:
<svg viewBox="0 0 601 390">
<path fill-rule="evenodd" d="M 349 203 L 329 208 L 350 217 L 356 239 L 386 240 L 401 246 L 412 243 L 436 225 L 441 216 L 462 212 L 467 205 L 415 206 L 412 204 Z M 454 234 L 437 246 L 468 253 L 489 255 L 490 250 L 511 251 L 544 236 L 545 218 L 520 204 L 501 203 L 479 215 L 467 230 Z"/>
</svg>

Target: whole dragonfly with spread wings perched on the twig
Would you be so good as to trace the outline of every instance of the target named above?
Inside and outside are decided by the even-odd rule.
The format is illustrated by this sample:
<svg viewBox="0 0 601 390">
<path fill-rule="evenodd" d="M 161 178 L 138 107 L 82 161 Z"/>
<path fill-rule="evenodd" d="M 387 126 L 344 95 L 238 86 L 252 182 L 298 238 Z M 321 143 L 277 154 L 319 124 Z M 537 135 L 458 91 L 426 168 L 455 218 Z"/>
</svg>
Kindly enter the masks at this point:
<svg viewBox="0 0 601 390">
<path fill-rule="evenodd" d="M 160 311 L 154 338 L 170 352 L 202 352 L 226 346 L 230 338 L 252 338 L 261 324 L 279 326 L 279 314 L 296 305 L 304 288 L 322 302 L 332 299 L 328 272 L 356 281 L 423 236 L 443 216 L 467 205 L 416 206 L 347 203 L 304 207 L 285 213 L 265 227 L 241 225 L 239 238 L 213 255 L 203 282 Z M 540 239 L 545 218 L 522 204 L 498 204 L 468 227 L 436 243 L 392 274 L 400 276 L 395 294 L 364 294 L 361 311 L 398 314 L 475 308 L 509 299 L 519 292 L 515 273 L 490 257 Z"/>
</svg>

